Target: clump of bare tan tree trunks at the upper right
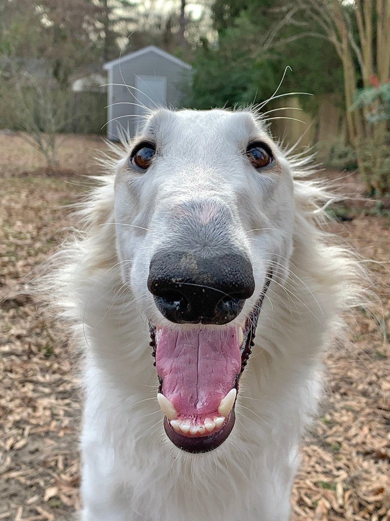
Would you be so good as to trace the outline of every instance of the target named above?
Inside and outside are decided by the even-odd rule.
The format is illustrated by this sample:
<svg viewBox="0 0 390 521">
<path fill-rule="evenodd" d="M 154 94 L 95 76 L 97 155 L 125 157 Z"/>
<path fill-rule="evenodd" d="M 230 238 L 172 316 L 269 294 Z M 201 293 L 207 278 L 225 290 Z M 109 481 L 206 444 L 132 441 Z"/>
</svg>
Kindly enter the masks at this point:
<svg viewBox="0 0 390 521">
<path fill-rule="evenodd" d="M 375 110 L 373 104 L 363 102 L 351 107 L 360 86 L 359 76 L 365 88 L 389 81 L 390 0 L 353 0 L 345 4 L 349 4 L 347 9 L 343 0 L 301 0 L 305 13 L 321 25 L 341 58 L 348 139 L 355 148 L 360 175 L 369 192 L 376 190 L 383 195 L 390 192 L 390 176 L 384 168 L 389 157 L 388 123 L 380 118 L 372 121 L 369 116 Z M 351 15 L 356 17 L 358 38 Z"/>
</svg>

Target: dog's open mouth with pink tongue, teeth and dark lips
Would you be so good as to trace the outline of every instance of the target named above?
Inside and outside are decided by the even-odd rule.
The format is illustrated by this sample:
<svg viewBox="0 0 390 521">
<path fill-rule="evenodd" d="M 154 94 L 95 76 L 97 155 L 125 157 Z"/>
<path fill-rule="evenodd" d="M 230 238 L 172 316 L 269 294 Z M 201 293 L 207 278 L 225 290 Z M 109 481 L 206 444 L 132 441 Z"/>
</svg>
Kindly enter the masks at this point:
<svg viewBox="0 0 390 521">
<path fill-rule="evenodd" d="M 164 429 L 180 449 L 211 451 L 233 429 L 239 380 L 251 354 L 270 280 L 267 275 L 263 292 L 243 326 L 197 325 L 174 330 L 150 325 Z"/>
</svg>

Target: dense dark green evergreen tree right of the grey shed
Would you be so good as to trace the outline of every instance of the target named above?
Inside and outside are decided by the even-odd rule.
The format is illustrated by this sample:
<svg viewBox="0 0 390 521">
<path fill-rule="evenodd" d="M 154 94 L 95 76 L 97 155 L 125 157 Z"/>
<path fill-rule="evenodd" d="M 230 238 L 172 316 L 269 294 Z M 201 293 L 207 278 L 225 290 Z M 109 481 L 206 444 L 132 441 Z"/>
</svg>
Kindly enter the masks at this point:
<svg viewBox="0 0 390 521">
<path fill-rule="evenodd" d="M 212 7 L 216 44 L 202 40 L 194 60 L 193 97 L 197 108 L 246 105 L 263 101 L 274 92 L 285 67 L 292 73 L 284 92 L 319 96 L 339 93 L 341 62 L 332 45 L 316 38 L 313 20 L 300 23 L 285 0 L 216 0 Z M 305 103 L 305 100 L 302 100 Z M 306 102 L 307 103 L 307 102 Z M 311 106 L 316 109 L 311 101 Z"/>
</svg>

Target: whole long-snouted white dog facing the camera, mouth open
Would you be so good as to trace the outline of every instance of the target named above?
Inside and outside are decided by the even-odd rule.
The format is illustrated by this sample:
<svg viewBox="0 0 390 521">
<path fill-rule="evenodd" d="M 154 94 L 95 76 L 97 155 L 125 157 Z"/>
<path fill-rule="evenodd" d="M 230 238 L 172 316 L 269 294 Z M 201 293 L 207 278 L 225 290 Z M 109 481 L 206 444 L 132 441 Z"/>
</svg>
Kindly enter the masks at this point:
<svg viewBox="0 0 390 521">
<path fill-rule="evenodd" d="M 160 109 L 83 205 L 46 281 L 85 352 L 83 521 L 289 518 L 358 288 L 305 163 L 250 110 Z"/>
</svg>

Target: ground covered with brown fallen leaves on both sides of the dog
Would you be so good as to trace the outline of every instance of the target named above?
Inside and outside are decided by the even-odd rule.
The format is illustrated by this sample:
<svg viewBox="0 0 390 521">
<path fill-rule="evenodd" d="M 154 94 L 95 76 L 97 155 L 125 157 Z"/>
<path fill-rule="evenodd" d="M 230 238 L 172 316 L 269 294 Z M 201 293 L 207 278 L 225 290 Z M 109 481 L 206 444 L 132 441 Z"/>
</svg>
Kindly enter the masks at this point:
<svg viewBox="0 0 390 521">
<path fill-rule="evenodd" d="M 66 237 L 64 205 L 85 188 L 82 175 L 96 172 L 90 162 L 103 146 L 66 137 L 62 174 L 53 177 L 23 140 L 0 133 L 0 520 L 65 521 L 80 508 L 77 361 L 66 330 L 37 311 L 27 283 Z M 361 191 L 353 175 L 341 183 Z M 348 318 L 349 332 L 326 358 L 326 395 L 303 442 L 293 521 L 390 520 L 390 220 L 348 204 L 343 217 L 352 220 L 332 228 L 363 258 L 384 261 L 370 263 L 381 302 Z"/>
</svg>

